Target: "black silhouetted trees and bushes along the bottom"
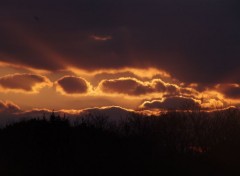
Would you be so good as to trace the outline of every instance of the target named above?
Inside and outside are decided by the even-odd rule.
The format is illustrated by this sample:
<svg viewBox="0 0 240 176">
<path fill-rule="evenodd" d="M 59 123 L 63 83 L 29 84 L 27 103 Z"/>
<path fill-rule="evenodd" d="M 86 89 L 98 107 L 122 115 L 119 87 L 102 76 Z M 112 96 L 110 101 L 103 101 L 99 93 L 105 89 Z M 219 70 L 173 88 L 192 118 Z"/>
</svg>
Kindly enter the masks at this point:
<svg viewBox="0 0 240 176">
<path fill-rule="evenodd" d="M 0 175 L 240 175 L 240 113 L 170 112 L 116 126 L 51 116 L 0 131 Z"/>
</svg>

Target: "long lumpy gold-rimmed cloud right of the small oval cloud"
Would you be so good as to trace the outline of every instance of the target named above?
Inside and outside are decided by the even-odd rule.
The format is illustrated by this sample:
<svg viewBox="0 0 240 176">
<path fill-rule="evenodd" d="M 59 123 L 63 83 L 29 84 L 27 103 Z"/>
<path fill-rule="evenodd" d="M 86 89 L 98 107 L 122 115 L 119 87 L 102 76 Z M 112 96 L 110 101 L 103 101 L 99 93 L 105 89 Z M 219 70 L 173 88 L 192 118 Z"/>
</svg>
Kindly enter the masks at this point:
<svg viewBox="0 0 240 176">
<path fill-rule="evenodd" d="M 165 83 L 161 79 L 140 81 L 136 78 L 130 77 L 102 80 L 98 87 L 104 93 L 126 94 L 130 96 L 151 93 L 176 94 L 179 89 L 177 85 Z"/>
</svg>

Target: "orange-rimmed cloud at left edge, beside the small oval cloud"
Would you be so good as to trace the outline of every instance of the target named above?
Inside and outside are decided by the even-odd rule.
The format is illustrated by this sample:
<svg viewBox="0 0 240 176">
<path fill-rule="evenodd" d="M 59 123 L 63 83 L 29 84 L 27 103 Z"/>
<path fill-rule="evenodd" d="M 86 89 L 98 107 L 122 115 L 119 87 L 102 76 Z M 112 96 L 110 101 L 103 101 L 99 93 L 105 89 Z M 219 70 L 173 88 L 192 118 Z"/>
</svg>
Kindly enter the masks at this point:
<svg viewBox="0 0 240 176">
<path fill-rule="evenodd" d="M 0 90 L 2 91 L 21 91 L 36 93 L 45 86 L 50 86 L 48 78 L 36 74 L 11 74 L 0 77 Z"/>
</svg>

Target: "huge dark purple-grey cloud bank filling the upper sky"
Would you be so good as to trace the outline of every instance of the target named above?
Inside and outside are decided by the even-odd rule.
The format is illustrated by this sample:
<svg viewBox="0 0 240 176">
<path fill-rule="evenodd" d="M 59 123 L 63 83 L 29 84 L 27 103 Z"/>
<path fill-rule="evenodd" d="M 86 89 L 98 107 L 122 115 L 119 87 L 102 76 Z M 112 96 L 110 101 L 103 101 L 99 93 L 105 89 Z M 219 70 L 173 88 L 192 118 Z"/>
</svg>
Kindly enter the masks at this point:
<svg viewBox="0 0 240 176">
<path fill-rule="evenodd" d="M 238 0 L 2 1 L 0 60 L 48 70 L 151 66 L 184 82 L 239 82 L 238 6 Z M 93 35 L 112 39 L 96 42 Z"/>
</svg>

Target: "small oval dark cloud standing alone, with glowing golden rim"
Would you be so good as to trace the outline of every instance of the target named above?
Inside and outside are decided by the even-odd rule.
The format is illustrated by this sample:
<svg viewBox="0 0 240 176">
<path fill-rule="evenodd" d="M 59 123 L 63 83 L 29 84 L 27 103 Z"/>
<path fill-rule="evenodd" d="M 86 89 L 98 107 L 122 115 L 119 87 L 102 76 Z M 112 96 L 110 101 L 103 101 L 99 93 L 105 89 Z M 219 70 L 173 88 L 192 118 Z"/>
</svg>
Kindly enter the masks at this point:
<svg viewBox="0 0 240 176">
<path fill-rule="evenodd" d="M 81 77 L 64 76 L 56 81 L 57 91 L 62 94 L 87 94 L 92 86 Z"/>
</svg>

